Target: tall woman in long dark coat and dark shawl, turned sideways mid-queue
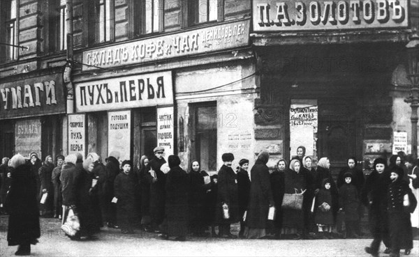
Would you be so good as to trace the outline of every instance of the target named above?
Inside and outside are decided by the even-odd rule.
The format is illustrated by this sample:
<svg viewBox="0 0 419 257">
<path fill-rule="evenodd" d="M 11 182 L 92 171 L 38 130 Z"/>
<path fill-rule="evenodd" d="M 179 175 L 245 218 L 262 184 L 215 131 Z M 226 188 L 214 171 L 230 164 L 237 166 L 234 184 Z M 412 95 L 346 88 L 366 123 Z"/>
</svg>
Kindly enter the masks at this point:
<svg viewBox="0 0 419 257">
<path fill-rule="evenodd" d="M 270 173 L 266 164 L 269 153 L 262 151 L 251 168 L 251 187 L 246 224 L 246 238 L 262 238 L 266 235 L 269 208 L 274 205 L 270 185 Z"/>
</svg>

